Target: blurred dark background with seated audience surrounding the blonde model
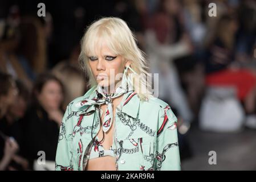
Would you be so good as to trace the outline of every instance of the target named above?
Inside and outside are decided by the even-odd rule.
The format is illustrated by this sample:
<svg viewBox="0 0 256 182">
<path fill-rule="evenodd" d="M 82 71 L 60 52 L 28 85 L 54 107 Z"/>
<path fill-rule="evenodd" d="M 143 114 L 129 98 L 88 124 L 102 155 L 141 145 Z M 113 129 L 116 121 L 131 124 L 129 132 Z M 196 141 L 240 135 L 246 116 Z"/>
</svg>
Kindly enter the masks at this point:
<svg viewBox="0 0 256 182">
<path fill-rule="evenodd" d="M 1 0 L 0 170 L 54 169 L 63 112 L 89 89 L 80 39 L 102 16 L 124 19 L 159 73 L 158 97 L 178 118 L 182 170 L 255 170 L 253 0 Z"/>
</svg>

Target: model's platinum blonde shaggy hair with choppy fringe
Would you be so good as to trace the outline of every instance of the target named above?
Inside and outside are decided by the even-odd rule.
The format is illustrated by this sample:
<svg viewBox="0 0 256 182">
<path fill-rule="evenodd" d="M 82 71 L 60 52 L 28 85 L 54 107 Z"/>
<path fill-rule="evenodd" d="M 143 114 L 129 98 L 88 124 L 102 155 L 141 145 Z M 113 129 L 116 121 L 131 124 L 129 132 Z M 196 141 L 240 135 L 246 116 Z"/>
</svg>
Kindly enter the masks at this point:
<svg viewBox="0 0 256 182">
<path fill-rule="evenodd" d="M 123 56 L 124 60 L 131 61 L 130 67 L 136 74 L 132 74 L 133 88 L 138 94 L 140 100 L 148 100 L 152 97 L 151 74 L 147 72 L 148 65 L 145 59 L 145 53 L 137 47 L 135 34 L 129 29 L 127 23 L 120 18 L 108 17 L 101 18 L 87 27 L 87 30 L 81 40 L 81 52 L 79 55 L 79 64 L 88 76 L 88 86 L 96 86 L 97 82 L 92 75 L 89 56 L 96 55 L 102 41 L 116 55 Z M 132 73 L 128 69 L 128 74 Z"/>
</svg>

